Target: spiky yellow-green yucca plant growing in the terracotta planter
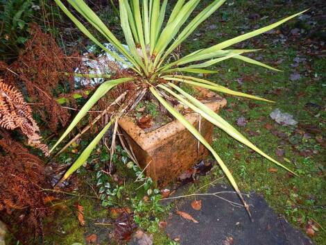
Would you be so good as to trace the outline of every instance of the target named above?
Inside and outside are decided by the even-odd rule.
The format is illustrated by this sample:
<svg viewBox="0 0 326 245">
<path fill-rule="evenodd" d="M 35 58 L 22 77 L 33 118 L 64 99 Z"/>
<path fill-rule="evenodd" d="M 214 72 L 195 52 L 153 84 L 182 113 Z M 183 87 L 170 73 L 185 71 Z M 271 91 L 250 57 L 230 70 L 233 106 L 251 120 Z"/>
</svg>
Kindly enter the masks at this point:
<svg viewBox="0 0 326 245">
<path fill-rule="evenodd" d="M 206 49 L 199 49 L 193 53 L 189 53 L 187 56 L 174 60 L 173 62 L 168 62 L 167 58 L 171 53 L 178 48 L 178 46 L 187 38 L 191 33 L 193 33 L 199 24 L 201 24 L 205 19 L 207 19 L 213 12 L 215 12 L 225 0 L 212 1 L 206 8 L 201 10 L 194 19 L 189 19 L 189 16 L 194 11 L 200 0 L 178 0 L 169 15 L 166 18 L 166 6 L 167 0 L 164 0 L 161 4 L 160 0 L 119 0 L 119 10 L 120 10 L 120 21 L 121 27 L 128 45 L 128 49 L 125 49 L 121 42 L 112 34 L 105 24 L 98 18 L 96 13 L 90 9 L 83 0 L 67 0 L 71 6 L 82 15 L 89 24 L 91 24 L 98 33 L 101 33 L 106 40 L 108 40 L 114 47 L 123 55 L 128 61 L 121 58 L 117 53 L 105 48 L 101 42 L 96 40 L 96 37 L 91 33 L 92 30 L 88 30 L 60 1 L 55 0 L 58 6 L 63 12 L 71 19 L 76 26 L 82 31 L 87 37 L 89 37 L 92 42 L 97 44 L 101 49 L 110 53 L 111 56 L 116 58 L 123 65 L 128 67 L 128 72 L 124 72 L 123 76 L 111 78 L 111 80 L 102 83 L 96 91 L 90 96 L 87 103 L 83 105 L 83 108 L 78 112 L 74 120 L 71 122 L 65 133 L 62 134 L 58 142 L 55 143 L 51 151 L 55 149 L 60 142 L 62 142 L 65 137 L 74 129 L 76 124 L 83 119 L 87 111 L 92 108 L 92 106 L 101 99 L 109 90 L 117 87 L 123 83 L 134 83 L 135 90 L 132 91 L 133 94 L 137 94 L 132 98 L 139 98 L 140 94 L 144 91 L 151 92 L 153 97 L 155 97 L 166 110 L 178 119 L 189 132 L 191 132 L 196 139 L 203 144 L 214 156 L 219 166 L 225 173 L 225 176 L 230 180 L 231 185 L 234 187 L 235 191 L 239 194 L 243 205 L 249 212 L 249 207 L 243 199 L 237 183 L 234 181 L 232 174 L 230 173 L 228 167 L 224 164 L 223 160 L 218 156 L 216 151 L 210 146 L 205 138 L 200 135 L 198 130 L 191 124 L 187 119 L 176 110 L 168 101 L 166 101 L 166 95 L 171 96 L 177 101 L 180 101 L 183 105 L 187 105 L 191 110 L 198 113 L 201 117 L 205 118 L 207 121 L 211 122 L 218 128 L 221 128 L 226 133 L 228 133 L 234 139 L 239 140 L 239 142 L 246 144 L 257 153 L 263 155 L 268 160 L 271 160 L 275 164 L 283 167 L 287 171 L 290 169 L 284 167 L 280 162 L 277 162 L 273 158 L 266 155 L 266 153 L 259 150 L 254 144 L 247 140 L 241 133 L 238 132 L 234 127 L 228 124 L 227 121 L 222 119 L 217 115 L 212 109 L 210 109 L 204 103 L 201 103 L 198 99 L 190 94 L 187 94 L 185 90 L 182 90 L 180 86 L 181 83 L 186 83 L 188 85 L 194 85 L 197 87 L 203 87 L 214 92 L 223 92 L 227 94 L 232 94 L 234 96 L 243 96 L 250 99 L 257 99 L 261 101 L 268 101 L 266 99 L 261 99 L 257 96 L 252 96 L 250 94 L 243 94 L 241 92 L 235 92 L 217 85 L 212 81 L 207 81 L 203 78 L 198 78 L 196 76 L 185 76 L 183 73 L 214 73 L 215 71 L 210 71 L 207 67 L 214 65 L 223 60 L 230 58 L 236 58 L 238 60 L 243 60 L 243 62 L 249 62 L 254 65 L 260 65 L 268 69 L 274 69 L 268 65 L 265 65 L 257 60 L 253 60 L 246 56 L 244 53 L 255 52 L 257 49 L 228 49 L 228 47 L 233 44 L 237 44 L 243 40 L 247 40 L 250 37 L 255 37 L 261 33 L 271 30 L 276 26 L 286 22 L 287 20 L 300 15 L 299 12 L 290 17 L 286 17 L 275 24 L 271 24 L 264 28 L 259 28 L 250 33 L 239 35 L 230 40 L 215 44 L 212 47 Z M 304 12 L 304 11 L 303 11 Z M 186 22 L 188 24 L 186 24 Z M 98 75 L 101 77 L 101 74 Z M 103 74 L 104 78 L 107 78 L 107 74 Z M 268 101 L 273 102 L 273 101 Z M 105 132 L 110 128 L 110 126 L 117 126 L 117 120 L 123 116 L 130 107 L 135 105 L 135 101 L 125 101 L 117 113 L 112 116 L 108 124 L 101 130 L 98 135 L 92 140 L 92 142 L 87 146 L 87 148 L 80 154 L 76 162 L 71 165 L 71 167 L 65 173 L 62 180 L 67 179 L 76 169 L 78 169 L 89 157 L 90 153 L 96 146 L 96 144 L 101 140 Z M 295 173 L 293 173 L 295 174 Z"/>
</svg>

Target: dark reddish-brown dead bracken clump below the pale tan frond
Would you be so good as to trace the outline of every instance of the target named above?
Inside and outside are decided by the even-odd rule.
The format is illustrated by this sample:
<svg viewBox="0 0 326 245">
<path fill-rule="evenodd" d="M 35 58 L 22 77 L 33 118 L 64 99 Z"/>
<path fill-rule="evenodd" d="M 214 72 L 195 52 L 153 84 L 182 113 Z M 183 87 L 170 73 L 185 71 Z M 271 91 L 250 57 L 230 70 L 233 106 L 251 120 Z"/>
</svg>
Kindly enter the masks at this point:
<svg viewBox="0 0 326 245">
<path fill-rule="evenodd" d="M 19 222 L 21 229 L 15 236 L 22 241 L 42 235 L 42 219 L 50 212 L 42 192 L 49 188 L 44 162 L 1 128 L 0 149 L 0 220 Z"/>
</svg>

